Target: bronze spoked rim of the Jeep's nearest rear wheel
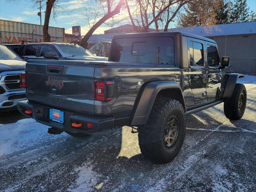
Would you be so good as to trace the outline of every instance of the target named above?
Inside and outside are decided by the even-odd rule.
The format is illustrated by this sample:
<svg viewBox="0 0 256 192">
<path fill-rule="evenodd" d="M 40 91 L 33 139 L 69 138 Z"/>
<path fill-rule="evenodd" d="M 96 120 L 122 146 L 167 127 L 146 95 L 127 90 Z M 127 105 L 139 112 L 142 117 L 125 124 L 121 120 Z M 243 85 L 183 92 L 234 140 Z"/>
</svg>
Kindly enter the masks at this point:
<svg viewBox="0 0 256 192">
<path fill-rule="evenodd" d="M 171 116 L 164 128 L 164 145 L 170 149 L 178 139 L 179 121 L 176 116 Z"/>
</svg>

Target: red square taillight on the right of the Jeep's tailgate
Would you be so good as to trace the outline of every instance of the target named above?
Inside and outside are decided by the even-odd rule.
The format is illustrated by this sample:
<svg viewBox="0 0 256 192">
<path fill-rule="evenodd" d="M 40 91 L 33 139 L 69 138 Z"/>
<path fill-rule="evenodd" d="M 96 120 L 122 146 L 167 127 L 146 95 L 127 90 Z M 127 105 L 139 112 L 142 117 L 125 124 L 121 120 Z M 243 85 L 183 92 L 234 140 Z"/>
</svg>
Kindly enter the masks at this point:
<svg viewBox="0 0 256 192">
<path fill-rule="evenodd" d="M 95 100 L 110 101 L 114 95 L 114 82 L 96 81 L 95 82 Z"/>
</svg>

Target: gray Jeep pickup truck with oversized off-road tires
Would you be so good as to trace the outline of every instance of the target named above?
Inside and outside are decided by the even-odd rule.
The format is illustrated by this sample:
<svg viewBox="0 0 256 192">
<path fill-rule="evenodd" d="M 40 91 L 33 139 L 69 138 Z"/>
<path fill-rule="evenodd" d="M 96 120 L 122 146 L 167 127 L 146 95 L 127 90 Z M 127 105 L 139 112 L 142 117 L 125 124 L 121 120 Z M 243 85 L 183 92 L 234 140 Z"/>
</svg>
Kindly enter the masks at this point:
<svg viewBox="0 0 256 192">
<path fill-rule="evenodd" d="M 106 62 L 29 60 L 18 110 L 52 134 L 131 126 L 142 154 L 166 163 L 182 147 L 186 114 L 224 102 L 227 118 L 242 118 L 246 88 L 229 62 L 216 42 L 192 34 L 116 35 Z"/>
</svg>

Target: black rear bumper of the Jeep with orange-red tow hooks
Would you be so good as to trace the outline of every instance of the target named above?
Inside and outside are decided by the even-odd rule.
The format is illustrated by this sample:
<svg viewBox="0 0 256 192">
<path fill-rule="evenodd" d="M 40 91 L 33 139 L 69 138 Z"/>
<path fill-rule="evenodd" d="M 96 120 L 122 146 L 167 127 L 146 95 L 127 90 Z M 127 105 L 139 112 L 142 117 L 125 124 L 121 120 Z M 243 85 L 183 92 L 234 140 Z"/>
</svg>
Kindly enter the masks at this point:
<svg viewBox="0 0 256 192">
<path fill-rule="evenodd" d="M 81 132 L 81 133 L 94 133 L 104 129 L 109 129 L 114 127 L 114 118 L 98 118 L 94 116 L 84 116 L 77 115 L 72 112 L 64 111 L 64 123 L 60 124 L 58 122 L 54 122 L 49 118 L 50 107 L 42 106 L 40 104 L 35 104 L 32 102 L 28 102 L 27 100 L 22 100 L 18 102 L 17 108 L 24 116 L 33 118 L 39 123 L 58 128 L 63 131 L 71 131 L 71 132 Z M 25 110 L 32 110 L 32 114 L 25 114 Z M 71 124 L 72 123 L 82 123 L 82 127 L 75 128 Z M 92 123 L 92 128 L 87 128 L 87 122 Z"/>
</svg>

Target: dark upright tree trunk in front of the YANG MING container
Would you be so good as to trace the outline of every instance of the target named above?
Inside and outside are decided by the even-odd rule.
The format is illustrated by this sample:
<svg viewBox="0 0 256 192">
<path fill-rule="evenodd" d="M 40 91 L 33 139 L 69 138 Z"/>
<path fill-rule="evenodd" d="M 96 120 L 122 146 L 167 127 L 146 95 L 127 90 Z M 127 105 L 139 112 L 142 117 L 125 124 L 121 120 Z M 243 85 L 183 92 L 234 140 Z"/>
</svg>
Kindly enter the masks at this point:
<svg viewBox="0 0 256 192">
<path fill-rule="evenodd" d="M 48 0 L 46 2 L 46 10 L 45 10 L 45 16 L 44 16 L 44 28 L 43 28 L 43 34 L 44 34 L 44 42 L 51 42 L 51 36 L 48 33 L 49 28 L 49 21 L 50 16 L 52 12 L 52 7 L 55 0 Z"/>
</svg>

